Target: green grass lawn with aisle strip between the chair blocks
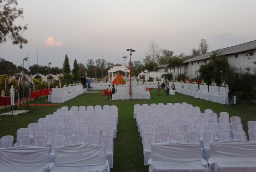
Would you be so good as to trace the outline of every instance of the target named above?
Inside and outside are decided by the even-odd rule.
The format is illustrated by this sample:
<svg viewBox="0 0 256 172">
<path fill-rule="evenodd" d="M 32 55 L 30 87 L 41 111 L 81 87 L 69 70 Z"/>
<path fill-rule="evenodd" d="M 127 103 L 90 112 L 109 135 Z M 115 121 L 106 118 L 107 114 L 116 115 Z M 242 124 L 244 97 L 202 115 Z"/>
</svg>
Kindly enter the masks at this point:
<svg viewBox="0 0 256 172">
<path fill-rule="evenodd" d="M 46 103 L 46 98 L 35 100 L 33 104 Z M 241 117 L 244 131 L 247 132 L 247 122 L 256 120 L 256 109 L 249 104 L 243 103 L 235 105 L 233 108 L 228 108 L 227 105 L 217 104 L 210 101 L 193 98 L 191 96 L 176 93 L 175 96 L 166 96 L 165 92 L 161 91 L 161 95 L 157 96 L 157 90 L 151 89 L 151 100 L 124 100 L 110 101 L 108 96 L 95 94 L 83 94 L 70 101 L 60 104 L 59 106 L 31 106 L 30 112 L 19 116 L 0 116 L 0 137 L 4 135 L 16 136 L 16 131 L 19 128 L 27 127 L 29 123 L 36 123 L 41 117 L 47 114 L 52 114 L 62 106 L 88 106 L 88 105 L 117 105 L 118 107 L 118 132 L 117 138 L 114 140 L 114 168 L 111 172 L 148 172 L 148 167 L 145 167 L 143 161 L 142 140 L 139 137 L 136 121 L 133 119 L 134 104 L 151 104 L 151 103 L 175 103 L 187 102 L 193 106 L 200 107 L 201 111 L 212 109 L 219 114 L 220 112 L 228 112 L 231 116 Z M 25 107 L 19 108 L 23 110 Z M 4 113 L 8 110 L 0 110 Z M 16 138 L 15 138 L 16 139 Z"/>
</svg>

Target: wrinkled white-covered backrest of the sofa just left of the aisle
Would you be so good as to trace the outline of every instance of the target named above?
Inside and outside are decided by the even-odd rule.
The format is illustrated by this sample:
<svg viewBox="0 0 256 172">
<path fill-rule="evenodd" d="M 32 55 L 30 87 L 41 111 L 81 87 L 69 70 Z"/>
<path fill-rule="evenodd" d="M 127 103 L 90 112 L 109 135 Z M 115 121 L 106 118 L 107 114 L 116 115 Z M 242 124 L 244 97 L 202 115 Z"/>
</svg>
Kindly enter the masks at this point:
<svg viewBox="0 0 256 172">
<path fill-rule="evenodd" d="M 55 149 L 56 166 L 96 166 L 106 163 L 106 146 L 73 144 Z"/>
</svg>

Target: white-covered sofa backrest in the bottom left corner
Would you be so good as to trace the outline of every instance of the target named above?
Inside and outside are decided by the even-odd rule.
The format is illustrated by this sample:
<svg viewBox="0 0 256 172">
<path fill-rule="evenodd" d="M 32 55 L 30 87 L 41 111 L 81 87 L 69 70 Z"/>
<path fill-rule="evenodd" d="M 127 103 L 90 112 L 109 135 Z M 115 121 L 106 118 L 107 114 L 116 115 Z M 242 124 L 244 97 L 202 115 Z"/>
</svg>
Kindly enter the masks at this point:
<svg viewBox="0 0 256 172">
<path fill-rule="evenodd" d="M 15 146 L 0 149 L 0 167 L 42 168 L 49 162 L 49 154 L 49 147 Z"/>
</svg>

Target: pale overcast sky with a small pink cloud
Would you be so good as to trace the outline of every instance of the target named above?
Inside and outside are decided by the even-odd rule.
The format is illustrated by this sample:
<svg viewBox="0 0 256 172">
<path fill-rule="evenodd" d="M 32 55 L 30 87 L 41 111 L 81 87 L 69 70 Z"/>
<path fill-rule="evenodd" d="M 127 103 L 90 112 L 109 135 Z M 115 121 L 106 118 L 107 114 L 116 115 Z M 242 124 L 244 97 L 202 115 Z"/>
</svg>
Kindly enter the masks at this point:
<svg viewBox="0 0 256 172">
<path fill-rule="evenodd" d="M 123 63 L 123 52 L 135 49 L 141 60 L 151 40 L 175 55 L 198 48 L 206 39 L 209 50 L 256 40 L 256 0 L 18 0 L 28 24 L 19 49 L 8 40 L 0 44 L 0 57 L 21 65 L 29 54 L 30 65 L 52 62 L 61 67 L 68 54 L 74 59 L 104 56 Z M 25 64 L 28 68 L 28 64 Z"/>
</svg>

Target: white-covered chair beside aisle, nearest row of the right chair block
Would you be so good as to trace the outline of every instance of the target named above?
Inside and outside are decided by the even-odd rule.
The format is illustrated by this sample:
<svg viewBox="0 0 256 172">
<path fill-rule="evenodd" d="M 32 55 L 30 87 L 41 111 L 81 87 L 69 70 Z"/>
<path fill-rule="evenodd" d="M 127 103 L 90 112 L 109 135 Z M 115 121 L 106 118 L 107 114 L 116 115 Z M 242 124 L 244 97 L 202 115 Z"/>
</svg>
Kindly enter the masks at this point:
<svg viewBox="0 0 256 172">
<path fill-rule="evenodd" d="M 144 165 L 148 166 L 148 160 L 151 158 L 151 143 L 156 143 L 157 137 L 155 133 L 148 132 L 142 135 L 142 139 L 143 139 Z"/>
</svg>

